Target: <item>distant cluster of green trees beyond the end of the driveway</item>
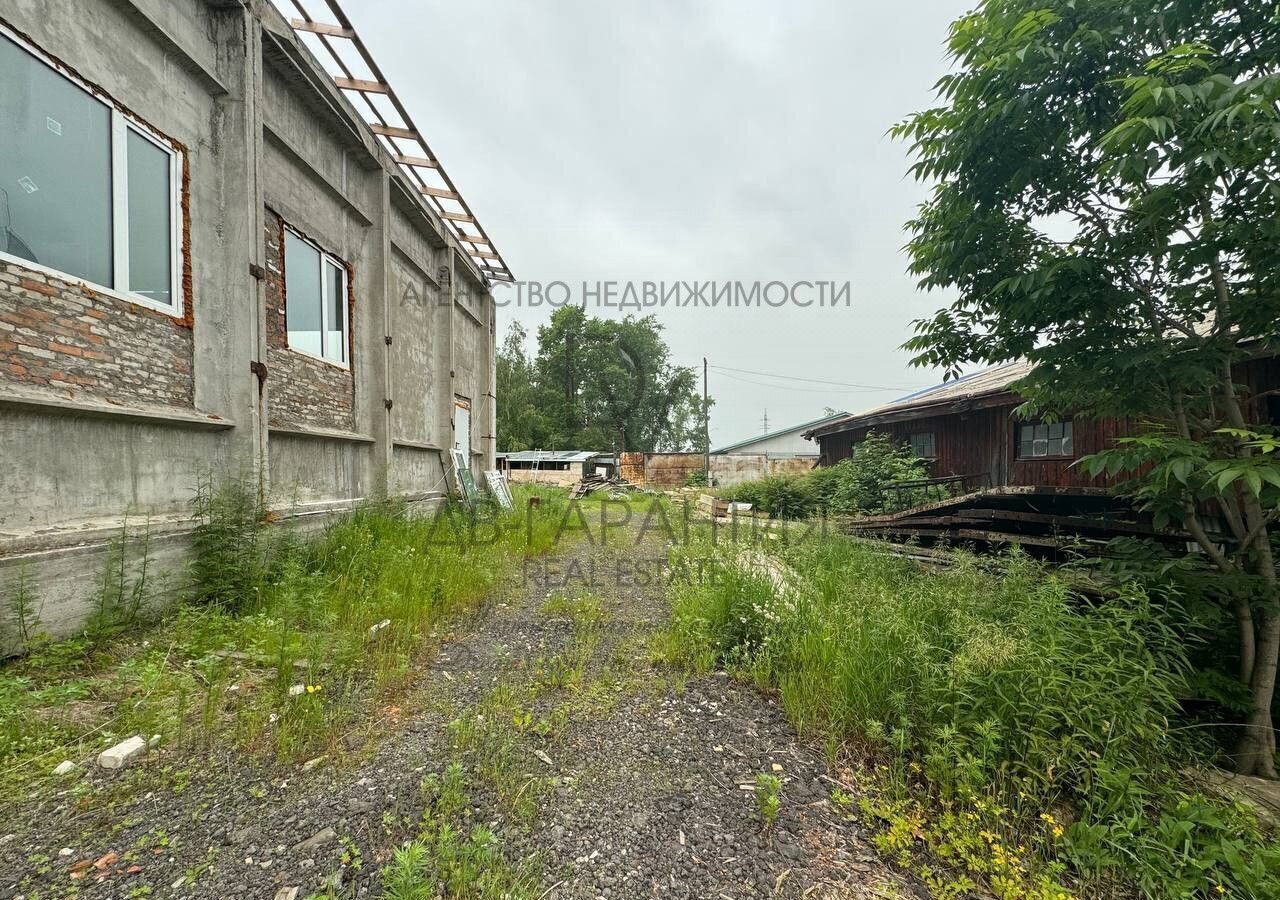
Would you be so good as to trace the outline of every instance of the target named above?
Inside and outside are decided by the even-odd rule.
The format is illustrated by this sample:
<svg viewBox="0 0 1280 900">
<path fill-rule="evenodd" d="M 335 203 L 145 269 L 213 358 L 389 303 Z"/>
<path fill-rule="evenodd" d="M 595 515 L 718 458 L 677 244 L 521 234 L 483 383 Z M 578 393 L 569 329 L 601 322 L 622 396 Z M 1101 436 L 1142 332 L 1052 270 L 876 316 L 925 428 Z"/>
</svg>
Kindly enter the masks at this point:
<svg viewBox="0 0 1280 900">
<path fill-rule="evenodd" d="M 557 310 L 538 352 L 512 325 L 498 355 L 498 447 L 614 451 L 701 449 L 703 399 L 694 370 L 671 362 L 654 316 L 594 319 Z"/>
</svg>

